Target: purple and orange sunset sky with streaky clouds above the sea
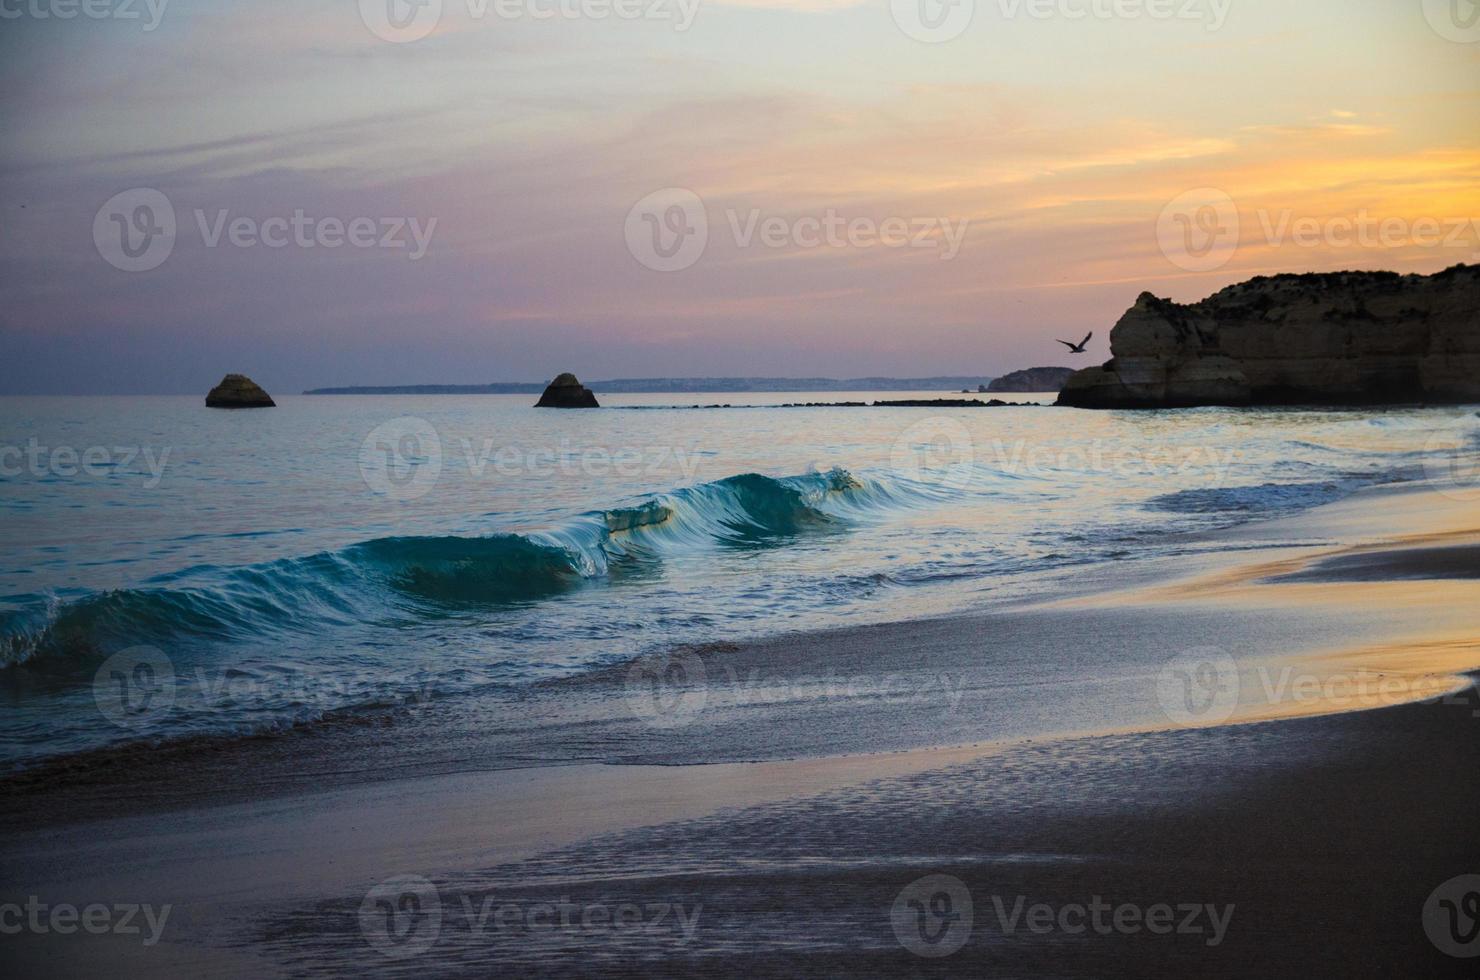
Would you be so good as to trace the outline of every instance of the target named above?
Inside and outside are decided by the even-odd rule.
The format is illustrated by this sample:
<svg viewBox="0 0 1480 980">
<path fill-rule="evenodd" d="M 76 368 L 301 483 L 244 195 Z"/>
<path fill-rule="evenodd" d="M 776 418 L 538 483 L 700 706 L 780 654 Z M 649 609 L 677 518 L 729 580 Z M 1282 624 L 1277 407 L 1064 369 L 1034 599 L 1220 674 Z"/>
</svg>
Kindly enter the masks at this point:
<svg viewBox="0 0 1480 980">
<path fill-rule="evenodd" d="M 1480 262 L 1473 0 L 419 1 L 0 0 L 0 394 L 999 375 Z"/>
</svg>

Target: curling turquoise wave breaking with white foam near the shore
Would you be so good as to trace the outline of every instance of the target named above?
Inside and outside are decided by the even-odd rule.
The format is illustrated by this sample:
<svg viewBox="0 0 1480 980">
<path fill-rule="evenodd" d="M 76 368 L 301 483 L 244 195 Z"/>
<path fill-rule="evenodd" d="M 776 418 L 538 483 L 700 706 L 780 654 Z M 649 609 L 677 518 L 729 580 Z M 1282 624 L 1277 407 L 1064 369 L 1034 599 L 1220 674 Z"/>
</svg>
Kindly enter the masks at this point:
<svg viewBox="0 0 1480 980">
<path fill-rule="evenodd" d="M 9 597 L 0 603 L 0 668 L 70 672 L 130 645 L 259 641 L 534 603 L 678 552 L 774 548 L 841 531 L 910 493 L 844 469 L 741 474 L 549 528 L 379 537 L 258 565 L 186 568 L 139 588 Z"/>
</svg>

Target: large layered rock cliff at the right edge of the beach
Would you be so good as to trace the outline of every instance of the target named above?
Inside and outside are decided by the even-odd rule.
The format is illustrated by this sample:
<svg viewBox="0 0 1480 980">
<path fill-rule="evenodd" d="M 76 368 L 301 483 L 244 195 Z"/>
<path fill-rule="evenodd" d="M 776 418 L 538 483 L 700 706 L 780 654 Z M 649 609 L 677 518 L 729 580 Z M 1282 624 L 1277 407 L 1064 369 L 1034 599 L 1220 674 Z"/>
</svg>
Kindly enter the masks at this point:
<svg viewBox="0 0 1480 980">
<path fill-rule="evenodd" d="M 1190 305 L 1141 293 L 1110 352 L 1058 404 L 1480 401 L 1480 266 L 1259 277 Z"/>
</svg>

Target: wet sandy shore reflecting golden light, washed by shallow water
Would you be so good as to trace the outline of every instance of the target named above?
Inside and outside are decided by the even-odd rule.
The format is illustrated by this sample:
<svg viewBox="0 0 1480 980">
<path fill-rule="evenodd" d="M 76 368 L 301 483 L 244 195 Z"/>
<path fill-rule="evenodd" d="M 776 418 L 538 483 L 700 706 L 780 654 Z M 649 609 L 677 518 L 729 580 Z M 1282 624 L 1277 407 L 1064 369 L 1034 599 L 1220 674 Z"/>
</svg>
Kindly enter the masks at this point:
<svg viewBox="0 0 1480 980">
<path fill-rule="evenodd" d="M 1051 601 L 681 651 L 653 702 L 672 663 L 53 768 L 4 785 L 3 900 L 172 913 L 4 942 L 33 976 L 1473 976 L 1422 916 L 1480 873 L 1477 540 L 1474 502 L 1363 493 Z"/>
</svg>

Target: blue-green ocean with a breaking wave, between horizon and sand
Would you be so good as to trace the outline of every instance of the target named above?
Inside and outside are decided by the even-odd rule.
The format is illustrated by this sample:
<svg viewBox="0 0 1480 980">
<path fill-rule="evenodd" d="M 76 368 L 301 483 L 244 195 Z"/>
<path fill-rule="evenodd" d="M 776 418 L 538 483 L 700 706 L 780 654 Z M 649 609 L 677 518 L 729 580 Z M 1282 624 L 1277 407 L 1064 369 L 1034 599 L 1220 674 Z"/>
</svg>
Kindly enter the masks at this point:
<svg viewBox="0 0 1480 980">
<path fill-rule="evenodd" d="M 1473 474 L 1480 434 L 1473 407 L 780 407 L 950 397 L 3 398 L 0 765 L 1011 604 Z"/>
</svg>

